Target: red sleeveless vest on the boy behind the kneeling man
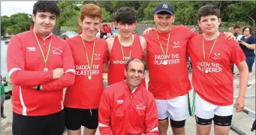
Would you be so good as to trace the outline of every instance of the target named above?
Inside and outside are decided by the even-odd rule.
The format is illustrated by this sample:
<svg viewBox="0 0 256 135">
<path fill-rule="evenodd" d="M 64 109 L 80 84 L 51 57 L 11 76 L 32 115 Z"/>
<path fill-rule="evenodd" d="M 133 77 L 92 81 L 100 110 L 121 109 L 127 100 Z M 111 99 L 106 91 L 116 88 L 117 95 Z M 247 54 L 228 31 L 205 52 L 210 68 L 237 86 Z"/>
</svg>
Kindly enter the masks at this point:
<svg viewBox="0 0 256 135">
<path fill-rule="evenodd" d="M 122 49 L 118 37 L 115 37 L 113 47 L 110 51 L 110 65 L 108 68 L 107 74 L 107 83 L 108 85 L 112 85 L 114 83 L 119 83 L 124 80 L 125 74 L 125 65 L 127 61 L 130 59 L 129 54 L 131 50 L 131 58 L 140 58 L 143 59 L 143 49 L 140 45 L 140 36 L 134 34 L 134 43 L 131 46 L 122 46 L 125 58 L 122 55 Z M 142 80 L 141 84 L 146 87 L 145 79 Z"/>
</svg>

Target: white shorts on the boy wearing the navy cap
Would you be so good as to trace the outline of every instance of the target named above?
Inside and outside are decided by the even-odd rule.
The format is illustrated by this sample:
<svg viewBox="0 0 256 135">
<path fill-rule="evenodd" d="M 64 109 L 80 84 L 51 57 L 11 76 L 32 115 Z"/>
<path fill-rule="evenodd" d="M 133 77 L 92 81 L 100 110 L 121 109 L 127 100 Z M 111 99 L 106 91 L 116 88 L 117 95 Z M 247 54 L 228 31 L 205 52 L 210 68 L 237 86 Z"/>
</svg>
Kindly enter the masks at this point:
<svg viewBox="0 0 256 135">
<path fill-rule="evenodd" d="M 188 94 L 170 100 L 155 99 L 158 119 L 170 117 L 173 121 L 185 120 L 188 113 Z"/>
</svg>

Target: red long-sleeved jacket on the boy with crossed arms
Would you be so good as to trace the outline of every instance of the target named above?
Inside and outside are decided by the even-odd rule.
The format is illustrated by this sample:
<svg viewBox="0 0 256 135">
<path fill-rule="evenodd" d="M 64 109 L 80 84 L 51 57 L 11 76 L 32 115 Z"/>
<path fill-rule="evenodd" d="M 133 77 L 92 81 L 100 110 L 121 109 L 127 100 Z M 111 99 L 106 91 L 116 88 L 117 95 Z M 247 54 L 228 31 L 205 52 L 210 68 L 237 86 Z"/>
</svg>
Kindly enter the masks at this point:
<svg viewBox="0 0 256 135">
<path fill-rule="evenodd" d="M 50 115 L 63 109 L 63 89 L 74 84 L 74 61 L 65 40 L 50 34 L 44 40 L 37 35 L 44 55 L 50 40 L 50 55 L 44 71 L 44 59 L 33 30 L 17 34 L 8 44 L 8 74 L 14 83 L 13 110 L 20 115 Z M 63 68 L 65 74 L 53 80 L 53 70 Z M 32 89 L 42 85 L 41 91 Z"/>
</svg>

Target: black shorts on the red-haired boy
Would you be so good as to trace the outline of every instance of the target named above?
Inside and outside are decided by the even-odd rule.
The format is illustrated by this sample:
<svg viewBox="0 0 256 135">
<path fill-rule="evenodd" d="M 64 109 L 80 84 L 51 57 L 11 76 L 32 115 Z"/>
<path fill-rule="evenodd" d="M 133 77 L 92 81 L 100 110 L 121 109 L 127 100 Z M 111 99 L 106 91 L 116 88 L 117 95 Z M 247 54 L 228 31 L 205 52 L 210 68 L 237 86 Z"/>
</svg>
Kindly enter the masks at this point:
<svg viewBox="0 0 256 135">
<path fill-rule="evenodd" d="M 81 125 L 88 129 L 98 127 L 98 109 L 77 109 L 65 107 L 65 126 L 68 130 L 79 130 Z"/>
</svg>

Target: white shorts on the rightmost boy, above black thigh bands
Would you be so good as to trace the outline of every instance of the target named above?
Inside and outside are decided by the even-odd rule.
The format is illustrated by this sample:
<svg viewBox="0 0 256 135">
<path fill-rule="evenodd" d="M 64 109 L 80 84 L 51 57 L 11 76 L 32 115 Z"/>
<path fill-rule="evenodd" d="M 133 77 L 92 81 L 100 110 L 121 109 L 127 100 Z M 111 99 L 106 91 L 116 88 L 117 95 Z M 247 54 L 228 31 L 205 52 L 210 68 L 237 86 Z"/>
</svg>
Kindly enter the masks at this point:
<svg viewBox="0 0 256 135">
<path fill-rule="evenodd" d="M 233 104 L 229 106 L 217 106 L 204 101 L 196 94 L 195 98 L 195 115 L 199 118 L 209 119 L 213 118 L 214 115 L 228 116 L 233 115 Z"/>
</svg>

